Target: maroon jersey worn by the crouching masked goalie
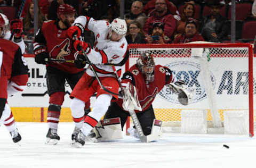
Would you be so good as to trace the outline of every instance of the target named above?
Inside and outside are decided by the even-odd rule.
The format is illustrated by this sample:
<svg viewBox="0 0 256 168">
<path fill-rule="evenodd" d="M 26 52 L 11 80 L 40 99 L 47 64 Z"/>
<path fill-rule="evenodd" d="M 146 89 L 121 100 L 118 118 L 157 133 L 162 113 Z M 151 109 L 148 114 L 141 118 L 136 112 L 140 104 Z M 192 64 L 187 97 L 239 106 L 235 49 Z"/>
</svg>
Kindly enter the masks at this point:
<svg viewBox="0 0 256 168">
<path fill-rule="evenodd" d="M 174 81 L 174 76 L 169 68 L 156 65 L 154 70 L 154 81 L 149 82 L 148 85 L 143 77 L 143 74 L 138 69 L 137 65 L 133 65 L 129 71 L 123 74 L 122 86 L 125 83 L 131 82 L 137 89 L 138 99 L 142 107 L 142 111 L 146 110 L 154 101 L 156 95 L 161 91 L 164 85 Z M 123 99 L 118 99 L 116 102 L 123 108 Z M 135 112 L 139 112 L 136 111 Z"/>
</svg>

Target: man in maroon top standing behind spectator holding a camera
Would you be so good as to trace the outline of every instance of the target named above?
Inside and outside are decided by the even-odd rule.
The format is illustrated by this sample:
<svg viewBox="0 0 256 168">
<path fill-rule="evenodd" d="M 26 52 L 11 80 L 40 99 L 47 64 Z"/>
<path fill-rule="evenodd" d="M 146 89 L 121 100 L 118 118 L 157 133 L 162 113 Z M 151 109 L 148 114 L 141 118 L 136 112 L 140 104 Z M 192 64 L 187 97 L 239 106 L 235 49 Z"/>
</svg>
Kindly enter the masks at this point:
<svg viewBox="0 0 256 168">
<path fill-rule="evenodd" d="M 147 19 L 143 28 L 146 37 L 151 34 L 151 30 L 153 30 L 153 22 L 158 20 L 164 25 L 164 34 L 172 39 L 177 20 L 175 20 L 174 16 L 167 10 L 166 2 L 165 0 L 156 0 L 155 12 Z"/>
</svg>

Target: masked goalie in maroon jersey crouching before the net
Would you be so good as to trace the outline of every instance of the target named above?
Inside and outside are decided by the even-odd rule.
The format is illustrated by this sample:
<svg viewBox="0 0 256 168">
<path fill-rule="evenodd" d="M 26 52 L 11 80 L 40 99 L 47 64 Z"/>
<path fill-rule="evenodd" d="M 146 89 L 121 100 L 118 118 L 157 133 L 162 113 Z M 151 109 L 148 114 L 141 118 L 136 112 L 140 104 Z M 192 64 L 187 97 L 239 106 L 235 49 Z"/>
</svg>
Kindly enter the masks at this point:
<svg viewBox="0 0 256 168">
<path fill-rule="evenodd" d="M 128 85 L 135 86 L 138 97 L 135 98 L 135 102 L 139 103 L 142 111 L 135 110 L 132 102 L 126 99 L 126 95 L 123 98 L 119 98 L 116 102 L 111 102 L 104 119 L 112 119 L 120 117 L 122 129 L 127 120 L 127 116 L 130 116 L 128 110 L 134 110 L 140 121 L 143 133 L 145 136 L 150 135 L 151 127 L 155 119 L 154 109 L 152 103 L 156 95 L 163 89 L 165 85 L 170 86 L 174 93 L 179 94 L 181 90 L 177 87 L 185 85 L 181 80 L 177 80 L 175 75 L 169 68 L 162 65 L 155 65 L 154 58 L 148 52 L 143 52 L 134 64 L 127 72 L 123 74 L 121 85 L 126 88 Z M 172 83 L 170 85 L 170 83 Z M 174 86 L 174 87 L 173 87 Z M 183 99 L 180 98 L 180 101 Z M 182 102 L 182 104 L 187 104 Z M 125 109 L 125 110 L 124 110 Z M 137 133 L 134 133 L 134 129 L 129 131 L 135 137 L 139 138 Z M 136 131 L 135 131 L 136 132 Z"/>
</svg>

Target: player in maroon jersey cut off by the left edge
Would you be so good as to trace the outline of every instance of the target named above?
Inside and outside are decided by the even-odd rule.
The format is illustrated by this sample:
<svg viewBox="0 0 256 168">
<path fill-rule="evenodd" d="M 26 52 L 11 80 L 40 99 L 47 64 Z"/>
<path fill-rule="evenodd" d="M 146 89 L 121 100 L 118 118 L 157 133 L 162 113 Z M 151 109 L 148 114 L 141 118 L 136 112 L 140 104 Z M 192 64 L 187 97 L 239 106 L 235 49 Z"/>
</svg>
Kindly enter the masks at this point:
<svg viewBox="0 0 256 168">
<path fill-rule="evenodd" d="M 0 124 L 4 123 L 14 143 L 21 140 L 7 97 L 22 91 L 28 81 L 28 66 L 20 47 L 4 39 L 5 20 L 0 15 Z"/>
</svg>

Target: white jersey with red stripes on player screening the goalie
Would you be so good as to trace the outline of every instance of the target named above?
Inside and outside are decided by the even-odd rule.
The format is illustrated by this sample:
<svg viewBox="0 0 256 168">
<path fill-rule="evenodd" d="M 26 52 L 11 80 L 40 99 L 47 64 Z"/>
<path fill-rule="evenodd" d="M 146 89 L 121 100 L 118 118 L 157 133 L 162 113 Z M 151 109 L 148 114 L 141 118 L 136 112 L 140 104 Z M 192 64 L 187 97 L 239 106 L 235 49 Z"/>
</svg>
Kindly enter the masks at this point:
<svg viewBox="0 0 256 168">
<path fill-rule="evenodd" d="M 110 23 L 103 20 L 94 20 L 87 16 L 79 16 L 75 23 L 82 24 L 85 30 L 91 30 L 95 36 L 95 43 L 91 52 L 87 54 L 89 60 L 95 64 L 94 69 L 99 77 L 115 76 L 112 66 L 96 65 L 104 63 L 117 64 L 121 62 L 127 50 L 127 41 L 123 37 L 119 41 L 111 41 L 108 39 Z M 115 66 L 118 74 L 121 75 L 121 66 Z M 91 69 L 87 69 L 86 73 L 94 76 Z"/>
</svg>

